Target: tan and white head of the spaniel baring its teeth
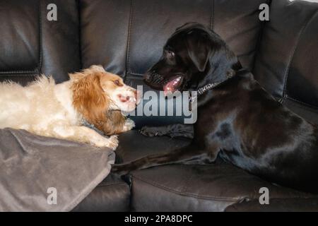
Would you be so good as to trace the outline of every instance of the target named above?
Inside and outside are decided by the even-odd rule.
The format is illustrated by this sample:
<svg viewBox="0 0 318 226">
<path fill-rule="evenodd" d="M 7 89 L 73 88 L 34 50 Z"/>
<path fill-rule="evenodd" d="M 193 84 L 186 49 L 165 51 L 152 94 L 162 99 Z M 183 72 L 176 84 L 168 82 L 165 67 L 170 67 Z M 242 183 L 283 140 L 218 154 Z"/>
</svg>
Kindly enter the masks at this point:
<svg viewBox="0 0 318 226">
<path fill-rule="evenodd" d="M 69 76 L 73 105 L 86 119 L 104 117 L 107 110 L 131 112 L 141 100 L 137 90 L 125 85 L 122 78 L 105 71 L 102 66 L 93 65 Z"/>
</svg>

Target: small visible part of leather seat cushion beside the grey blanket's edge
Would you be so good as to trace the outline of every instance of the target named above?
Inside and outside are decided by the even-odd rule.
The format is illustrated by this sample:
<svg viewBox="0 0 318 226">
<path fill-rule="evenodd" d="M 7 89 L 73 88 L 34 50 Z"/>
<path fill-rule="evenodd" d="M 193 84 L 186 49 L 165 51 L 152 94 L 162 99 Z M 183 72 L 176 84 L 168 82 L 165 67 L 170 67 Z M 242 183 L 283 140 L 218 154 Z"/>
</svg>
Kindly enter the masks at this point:
<svg viewBox="0 0 318 226">
<path fill-rule="evenodd" d="M 109 174 L 73 211 L 129 211 L 129 202 L 129 185 L 117 175 Z"/>
</svg>

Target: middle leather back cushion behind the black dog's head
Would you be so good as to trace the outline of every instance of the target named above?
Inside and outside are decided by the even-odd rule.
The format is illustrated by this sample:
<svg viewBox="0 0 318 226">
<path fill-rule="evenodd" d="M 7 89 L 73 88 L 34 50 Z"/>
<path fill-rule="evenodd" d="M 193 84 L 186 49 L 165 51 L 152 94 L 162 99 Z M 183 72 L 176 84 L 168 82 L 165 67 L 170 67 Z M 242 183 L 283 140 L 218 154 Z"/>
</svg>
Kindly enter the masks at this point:
<svg viewBox="0 0 318 226">
<path fill-rule="evenodd" d="M 252 69 L 261 30 L 259 5 L 266 0 L 81 0 L 83 67 L 101 64 L 129 85 L 162 54 L 166 40 L 187 22 L 202 23 L 228 42 Z M 143 85 L 143 90 L 148 90 Z M 148 120 L 149 118 L 144 118 Z M 164 121 L 172 121 L 164 118 Z"/>
</svg>

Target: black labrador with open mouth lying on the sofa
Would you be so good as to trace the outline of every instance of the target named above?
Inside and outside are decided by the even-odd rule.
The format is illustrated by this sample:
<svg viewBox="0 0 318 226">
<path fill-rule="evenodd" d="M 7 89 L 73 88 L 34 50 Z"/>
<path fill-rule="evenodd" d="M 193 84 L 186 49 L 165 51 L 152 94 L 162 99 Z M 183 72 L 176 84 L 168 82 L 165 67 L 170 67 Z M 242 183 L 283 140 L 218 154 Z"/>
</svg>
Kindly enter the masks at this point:
<svg viewBox="0 0 318 226">
<path fill-rule="evenodd" d="M 112 172 L 203 165 L 219 156 L 270 182 L 318 191 L 317 127 L 276 102 L 212 30 L 197 23 L 178 28 L 144 78 L 158 90 L 198 90 L 194 138 L 184 148 L 113 165 Z M 164 135 L 175 128 L 146 128 L 143 133 Z"/>
</svg>

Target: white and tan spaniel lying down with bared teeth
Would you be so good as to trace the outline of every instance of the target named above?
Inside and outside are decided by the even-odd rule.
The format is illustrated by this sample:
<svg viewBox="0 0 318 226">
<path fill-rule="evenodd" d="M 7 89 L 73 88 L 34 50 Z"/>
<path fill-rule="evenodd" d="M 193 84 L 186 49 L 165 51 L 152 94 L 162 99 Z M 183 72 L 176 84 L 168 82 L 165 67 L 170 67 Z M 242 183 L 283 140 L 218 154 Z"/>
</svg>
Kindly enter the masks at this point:
<svg viewBox="0 0 318 226">
<path fill-rule="evenodd" d="M 0 83 L 0 129 L 25 129 L 40 136 L 116 149 L 114 134 L 134 127 L 134 121 L 122 112 L 135 109 L 139 93 L 102 66 L 69 76 L 70 80 L 61 84 L 45 76 L 26 87 Z M 83 126 L 86 123 L 112 136 L 101 136 Z"/>
</svg>

